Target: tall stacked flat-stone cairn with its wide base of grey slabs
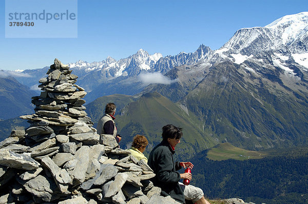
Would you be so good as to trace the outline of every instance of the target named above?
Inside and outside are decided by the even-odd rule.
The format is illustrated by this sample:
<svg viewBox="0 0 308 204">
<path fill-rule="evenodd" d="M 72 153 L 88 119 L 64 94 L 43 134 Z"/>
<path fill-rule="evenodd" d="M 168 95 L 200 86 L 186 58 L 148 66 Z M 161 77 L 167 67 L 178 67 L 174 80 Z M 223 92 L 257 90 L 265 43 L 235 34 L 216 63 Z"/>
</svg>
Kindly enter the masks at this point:
<svg viewBox="0 0 308 204">
<path fill-rule="evenodd" d="M 0 203 L 179 203 L 160 196 L 144 160 L 92 128 L 71 72 L 54 59 L 35 113 L 20 116 L 30 127 L 0 142 Z"/>
</svg>

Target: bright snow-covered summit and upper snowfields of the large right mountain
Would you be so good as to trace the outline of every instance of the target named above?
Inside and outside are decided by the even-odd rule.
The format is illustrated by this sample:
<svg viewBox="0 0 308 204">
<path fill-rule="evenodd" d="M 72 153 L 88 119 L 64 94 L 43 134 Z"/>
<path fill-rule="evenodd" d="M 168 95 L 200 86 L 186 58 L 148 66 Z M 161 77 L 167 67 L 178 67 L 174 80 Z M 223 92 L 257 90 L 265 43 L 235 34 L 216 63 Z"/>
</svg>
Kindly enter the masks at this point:
<svg viewBox="0 0 308 204">
<path fill-rule="evenodd" d="M 255 59 L 262 63 L 264 52 L 272 53 L 273 63 L 284 70 L 290 71 L 285 63 L 294 60 L 308 71 L 308 12 L 283 16 L 265 27 L 242 28 L 211 60 L 242 64 Z"/>
</svg>

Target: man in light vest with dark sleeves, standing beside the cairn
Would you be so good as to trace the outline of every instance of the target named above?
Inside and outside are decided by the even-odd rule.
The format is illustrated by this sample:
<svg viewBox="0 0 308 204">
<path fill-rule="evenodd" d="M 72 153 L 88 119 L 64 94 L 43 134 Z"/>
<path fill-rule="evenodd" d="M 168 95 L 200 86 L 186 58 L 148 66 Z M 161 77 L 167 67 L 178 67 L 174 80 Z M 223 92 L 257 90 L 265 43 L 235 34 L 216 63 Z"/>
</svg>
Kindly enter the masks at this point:
<svg viewBox="0 0 308 204">
<path fill-rule="evenodd" d="M 105 107 L 105 115 L 101 117 L 98 122 L 98 134 L 107 134 L 113 135 L 117 140 L 118 144 L 121 141 L 121 136 L 117 134 L 117 128 L 115 127 L 114 123 L 114 114 L 115 114 L 115 105 L 113 103 L 108 103 Z"/>
</svg>

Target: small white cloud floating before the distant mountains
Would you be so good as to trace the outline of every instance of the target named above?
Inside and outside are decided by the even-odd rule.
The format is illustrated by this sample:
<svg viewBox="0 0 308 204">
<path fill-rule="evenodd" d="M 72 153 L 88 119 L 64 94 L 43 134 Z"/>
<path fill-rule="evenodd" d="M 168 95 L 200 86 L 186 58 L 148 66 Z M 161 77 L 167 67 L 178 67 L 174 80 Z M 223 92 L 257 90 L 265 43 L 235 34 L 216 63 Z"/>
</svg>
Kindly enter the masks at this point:
<svg viewBox="0 0 308 204">
<path fill-rule="evenodd" d="M 164 76 L 162 73 L 146 73 L 140 74 L 139 79 L 143 84 L 166 84 L 169 85 L 171 83 L 175 83 L 178 79 L 171 80 L 170 78 Z"/>
</svg>

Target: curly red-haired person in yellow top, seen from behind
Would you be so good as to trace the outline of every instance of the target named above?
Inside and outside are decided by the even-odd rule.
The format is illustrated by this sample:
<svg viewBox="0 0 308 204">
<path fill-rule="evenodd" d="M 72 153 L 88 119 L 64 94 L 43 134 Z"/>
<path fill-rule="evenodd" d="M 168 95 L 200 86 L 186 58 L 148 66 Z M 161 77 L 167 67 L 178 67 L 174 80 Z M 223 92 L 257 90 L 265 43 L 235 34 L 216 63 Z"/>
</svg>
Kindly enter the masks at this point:
<svg viewBox="0 0 308 204">
<path fill-rule="evenodd" d="M 148 145 L 148 140 L 143 135 L 136 135 L 132 139 L 131 148 L 128 151 L 132 156 L 136 157 L 138 160 L 144 159 L 147 162 L 147 158 L 144 156 L 143 152 Z"/>
</svg>

